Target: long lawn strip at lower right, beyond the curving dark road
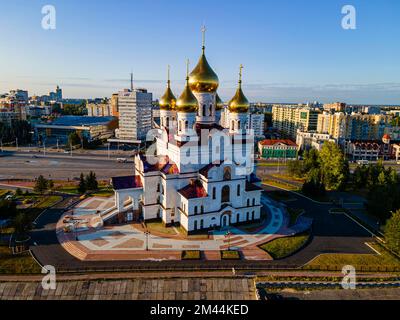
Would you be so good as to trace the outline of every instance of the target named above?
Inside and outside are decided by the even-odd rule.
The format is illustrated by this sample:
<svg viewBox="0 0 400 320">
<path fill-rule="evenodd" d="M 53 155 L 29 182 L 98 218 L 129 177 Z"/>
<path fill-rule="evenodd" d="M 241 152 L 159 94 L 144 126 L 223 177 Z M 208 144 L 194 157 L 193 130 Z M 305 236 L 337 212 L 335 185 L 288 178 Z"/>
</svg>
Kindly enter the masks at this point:
<svg viewBox="0 0 400 320">
<path fill-rule="evenodd" d="M 378 243 L 369 243 L 377 250 L 378 254 L 323 254 L 310 261 L 304 269 L 341 269 L 345 265 L 352 265 L 357 268 L 379 268 L 379 267 L 398 267 L 400 260 L 392 255 Z"/>
</svg>

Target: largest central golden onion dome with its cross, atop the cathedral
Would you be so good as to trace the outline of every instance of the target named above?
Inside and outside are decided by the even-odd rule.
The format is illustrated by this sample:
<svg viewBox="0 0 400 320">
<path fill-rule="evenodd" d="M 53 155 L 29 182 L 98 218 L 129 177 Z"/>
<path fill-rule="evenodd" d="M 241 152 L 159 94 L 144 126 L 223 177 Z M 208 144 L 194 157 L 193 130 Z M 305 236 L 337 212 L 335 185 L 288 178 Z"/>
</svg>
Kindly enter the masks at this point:
<svg viewBox="0 0 400 320">
<path fill-rule="evenodd" d="M 217 74 L 208 64 L 205 51 L 205 28 L 203 32 L 203 52 L 197 66 L 193 69 L 189 76 L 190 89 L 193 92 L 215 92 L 219 86 Z"/>
</svg>

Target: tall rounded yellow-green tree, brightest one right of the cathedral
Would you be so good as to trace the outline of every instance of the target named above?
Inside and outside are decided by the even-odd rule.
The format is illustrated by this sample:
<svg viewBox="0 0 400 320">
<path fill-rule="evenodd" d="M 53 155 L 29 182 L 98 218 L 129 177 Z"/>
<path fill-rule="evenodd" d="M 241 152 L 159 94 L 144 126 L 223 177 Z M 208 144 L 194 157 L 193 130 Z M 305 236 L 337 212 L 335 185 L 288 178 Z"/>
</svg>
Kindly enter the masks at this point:
<svg viewBox="0 0 400 320">
<path fill-rule="evenodd" d="M 349 177 L 349 163 L 342 150 L 333 142 L 325 142 L 319 152 L 321 182 L 329 190 L 341 190 Z"/>
</svg>

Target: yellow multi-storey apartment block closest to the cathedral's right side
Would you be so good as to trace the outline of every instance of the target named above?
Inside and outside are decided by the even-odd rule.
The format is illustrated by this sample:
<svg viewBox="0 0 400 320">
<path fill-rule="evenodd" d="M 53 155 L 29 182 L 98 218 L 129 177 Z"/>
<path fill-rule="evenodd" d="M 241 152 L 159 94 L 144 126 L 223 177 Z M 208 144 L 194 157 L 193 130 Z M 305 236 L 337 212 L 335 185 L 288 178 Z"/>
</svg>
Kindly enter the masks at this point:
<svg viewBox="0 0 400 320">
<path fill-rule="evenodd" d="M 298 129 L 316 130 L 319 114 L 320 110 L 317 108 L 274 105 L 272 107 L 272 125 L 275 129 L 295 138 Z"/>
</svg>

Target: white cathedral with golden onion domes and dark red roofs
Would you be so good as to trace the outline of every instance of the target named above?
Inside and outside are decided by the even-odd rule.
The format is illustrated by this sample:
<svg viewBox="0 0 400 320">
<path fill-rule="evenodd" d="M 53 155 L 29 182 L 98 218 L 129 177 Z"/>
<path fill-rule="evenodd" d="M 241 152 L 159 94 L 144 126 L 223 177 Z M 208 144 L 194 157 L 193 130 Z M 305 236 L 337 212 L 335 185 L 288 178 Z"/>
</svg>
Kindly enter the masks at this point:
<svg viewBox="0 0 400 320">
<path fill-rule="evenodd" d="M 229 128 L 220 125 L 224 104 L 218 76 L 202 55 L 178 99 L 170 87 L 160 98 L 160 129 L 153 155 L 135 157 L 130 176 L 112 178 L 115 207 L 105 223 L 160 219 L 188 234 L 260 219 L 260 180 L 254 139 L 246 129 L 249 102 L 239 86 L 228 103 Z"/>
</svg>

